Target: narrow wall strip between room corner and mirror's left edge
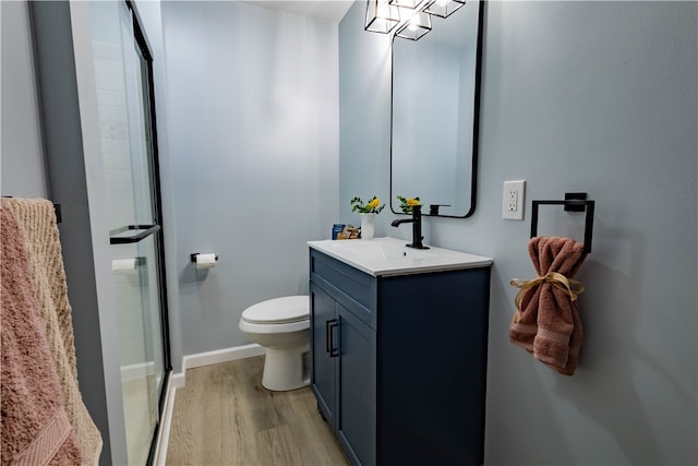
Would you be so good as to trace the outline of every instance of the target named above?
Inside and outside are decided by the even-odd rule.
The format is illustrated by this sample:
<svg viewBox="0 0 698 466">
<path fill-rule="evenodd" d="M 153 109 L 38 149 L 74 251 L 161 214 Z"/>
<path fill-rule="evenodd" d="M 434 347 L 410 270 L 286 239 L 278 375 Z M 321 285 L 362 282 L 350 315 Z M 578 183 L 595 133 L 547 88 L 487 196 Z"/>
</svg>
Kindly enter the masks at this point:
<svg viewBox="0 0 698 466">
<path fill-rule="evenodd" d="M 363 31 L 364 8 L 356 2 L 339 24 L 339 212 L 357 226 L 349 201 L 375 194 L 389 205 L 390 189 L 390 37 Z M 392 219 L 389 208 L 378 215 L 375 236 L 408 238 L 410 226 L 392 229 Z"/>
</svg>

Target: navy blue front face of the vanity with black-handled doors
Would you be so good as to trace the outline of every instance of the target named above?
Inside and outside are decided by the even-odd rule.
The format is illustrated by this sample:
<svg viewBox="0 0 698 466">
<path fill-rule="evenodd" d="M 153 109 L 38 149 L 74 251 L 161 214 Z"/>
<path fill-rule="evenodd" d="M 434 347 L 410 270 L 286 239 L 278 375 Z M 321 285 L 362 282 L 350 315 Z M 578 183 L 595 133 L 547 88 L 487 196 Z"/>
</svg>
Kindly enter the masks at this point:
<svg viewBox="0 0 698 466">
<path fill-rule="evenodd" d="M 325 278 L 346 274 L 345 289 L 348 285 L 370 289 L 371 283 L 368 275 L 334 259 L 313 259 L 314 268 L 325 275 L 310 283 L 311 387 L 349 459 L 375 464 L 376 332 L 366 322 L 372 312 Z"/>
</svg>

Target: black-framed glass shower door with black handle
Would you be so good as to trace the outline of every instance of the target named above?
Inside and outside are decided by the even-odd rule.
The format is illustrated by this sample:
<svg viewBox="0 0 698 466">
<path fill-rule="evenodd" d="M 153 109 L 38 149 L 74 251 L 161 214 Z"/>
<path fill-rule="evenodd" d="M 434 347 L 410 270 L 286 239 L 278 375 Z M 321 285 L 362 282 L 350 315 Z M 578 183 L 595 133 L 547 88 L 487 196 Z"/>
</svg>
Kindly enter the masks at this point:
<svg viewBox="0 0 698 466">
<path fill-rule="evenodd" d="M 151 57 L 125 2 L 91 2 L 129 465 L 152 455 L 170 370 Z"/>
</svg>

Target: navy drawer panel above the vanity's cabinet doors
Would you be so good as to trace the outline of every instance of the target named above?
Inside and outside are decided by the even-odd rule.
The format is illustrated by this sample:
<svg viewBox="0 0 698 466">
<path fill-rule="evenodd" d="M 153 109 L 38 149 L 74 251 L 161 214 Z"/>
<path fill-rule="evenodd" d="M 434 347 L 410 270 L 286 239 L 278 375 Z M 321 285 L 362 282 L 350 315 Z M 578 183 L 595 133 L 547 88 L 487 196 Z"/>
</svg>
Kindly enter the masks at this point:
<svg viewBox="0 0 698 466">
<path fill-rule="evenodd" d="M 376 330 L 377 284 L 375 277 L 311 249 L 310 279 L 357 318 Z"/>
</svg>

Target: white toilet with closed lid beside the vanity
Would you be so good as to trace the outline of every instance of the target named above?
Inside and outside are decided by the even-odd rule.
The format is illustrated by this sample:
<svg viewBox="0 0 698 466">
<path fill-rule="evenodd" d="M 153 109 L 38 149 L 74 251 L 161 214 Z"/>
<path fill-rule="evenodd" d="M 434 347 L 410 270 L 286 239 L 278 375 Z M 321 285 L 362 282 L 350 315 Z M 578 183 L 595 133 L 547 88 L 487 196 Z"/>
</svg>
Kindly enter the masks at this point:
<svg viewBox="0 0 698 466">
<path fill-rule="evenodd" d="M 286 296 L 249 307 L 238 327 L 265 346 L 262 385 L 276 392 L 310 383 L 310 298 Z"/>
</svg>

